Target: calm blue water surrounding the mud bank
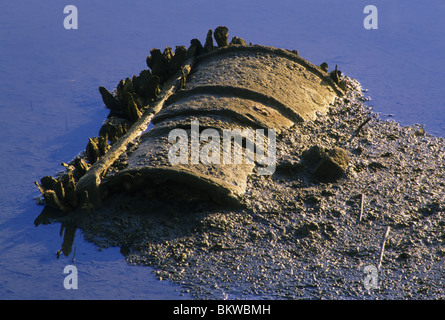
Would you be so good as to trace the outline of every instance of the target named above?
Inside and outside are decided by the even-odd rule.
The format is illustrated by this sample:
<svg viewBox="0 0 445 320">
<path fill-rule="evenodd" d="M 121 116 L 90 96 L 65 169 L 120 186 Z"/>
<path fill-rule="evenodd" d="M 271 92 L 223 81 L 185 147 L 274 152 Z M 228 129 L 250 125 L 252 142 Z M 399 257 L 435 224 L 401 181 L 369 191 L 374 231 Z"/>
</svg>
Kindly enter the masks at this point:
<svg viewBox="0 0 445 320">
<path fill-rule="evenodd" d="M 150 268 L 126 265 L 119 249 L 98 250 L 78 232 L 79 289 L 63 287 L 72 256 L 56 258 L 59 225 L 36 228 L 33 182 L 61 170 L 105 119 L 99 86 L 146 68 L 151 48 L 202 42 L 229 27 L 247 42 L 296 49 L 336 64 L 362 83 L 376 112 L 445 136 L 445 3 L 372 1 L 378 30 L 365 30 L 368 2 L 76 1 L 79 29 L 63 28 L 66 4 L 6 2 L 0 11 L 0 298 L 179 299 L 180 288 Z"/>
</svg>

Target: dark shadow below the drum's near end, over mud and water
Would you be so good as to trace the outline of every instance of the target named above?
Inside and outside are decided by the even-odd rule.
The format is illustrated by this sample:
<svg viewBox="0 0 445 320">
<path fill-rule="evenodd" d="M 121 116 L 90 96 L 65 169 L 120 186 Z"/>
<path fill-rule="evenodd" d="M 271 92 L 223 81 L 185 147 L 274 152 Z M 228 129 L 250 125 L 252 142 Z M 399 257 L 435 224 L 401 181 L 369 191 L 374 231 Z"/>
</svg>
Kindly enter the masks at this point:
<svg viewBox="0 0 445 320">
<path fill-rule="evenodd" d="M 79 229 L 87 241 L 102 248 L 119 247 L 125 257 L 140 243 L 158 243 L 190 235 L 199 229 L 205 216 L 220 210 L 221 205 L 203 200 L 199 195 L 187 202 L 168 196 L 147 198 L 122 192 L 108 196 L 97 209 L 65 213 L 45 206 L 34 224 L 60 223 L 59 236 L 63 240 L 58 257 L 60 254 L 69 257 L 73 253 L 74 237 Z"/>
</svg>

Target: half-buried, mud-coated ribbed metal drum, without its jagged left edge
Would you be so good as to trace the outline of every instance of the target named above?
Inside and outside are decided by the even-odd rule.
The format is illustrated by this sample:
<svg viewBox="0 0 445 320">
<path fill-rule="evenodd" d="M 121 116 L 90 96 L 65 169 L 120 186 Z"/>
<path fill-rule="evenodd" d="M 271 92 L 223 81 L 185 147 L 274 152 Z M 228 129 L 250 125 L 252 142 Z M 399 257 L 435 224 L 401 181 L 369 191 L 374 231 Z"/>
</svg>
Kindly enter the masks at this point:
<svg viewBox="0 0 445 320">
<path fill-rule="evenodd" d="M 339 95 L 326 72 L 291 51 L 235 45 L 200 55 L 183 90 L 127 152 L 128 166 L 110 170 L 101 189 L 108 193 L 124 186 L 147 195 L 158 190 L 185 200 L 238 203 L 250 174 L 264 174 L 265 167 L 272 168 L 266 174 L 273 173 L 273 163 L 258 161 L 259 134 L 264 133 L 265 156 L 275 160 L 268 151 L 274 152 L 276 135 L 314 120 Z M 241 142 L 229 141 L 239 132 Z M 224 152 L 233 152 L 232 161 L 224 161 Z M 181 161 L 172 161 L 178 154 Z"/>
</svg>

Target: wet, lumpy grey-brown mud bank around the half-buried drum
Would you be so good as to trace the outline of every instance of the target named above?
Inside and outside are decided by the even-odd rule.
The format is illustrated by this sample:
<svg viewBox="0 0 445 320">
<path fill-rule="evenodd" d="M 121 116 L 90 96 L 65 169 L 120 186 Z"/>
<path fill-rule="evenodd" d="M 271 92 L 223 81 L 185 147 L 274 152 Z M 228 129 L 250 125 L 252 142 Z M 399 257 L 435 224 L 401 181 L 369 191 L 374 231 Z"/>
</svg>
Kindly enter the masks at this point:
<svg viewBox="0 0 445 320">
<path fill-rule="evenodd" d="M 326 115 L 278 138 L 277 170 L 249 177 L 245 208 L 159 190 L 167 201 L 121 194 L 64 220 L 197 299 L 444 299 L 444 140 L 379 119 L 348 81 Z M 345 174 L 315 178 L 311 146 L 344 149 Z M 388 226 L 368 291 L 363 270 L 378 265 Z"/>
</svg>

